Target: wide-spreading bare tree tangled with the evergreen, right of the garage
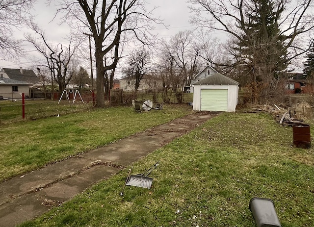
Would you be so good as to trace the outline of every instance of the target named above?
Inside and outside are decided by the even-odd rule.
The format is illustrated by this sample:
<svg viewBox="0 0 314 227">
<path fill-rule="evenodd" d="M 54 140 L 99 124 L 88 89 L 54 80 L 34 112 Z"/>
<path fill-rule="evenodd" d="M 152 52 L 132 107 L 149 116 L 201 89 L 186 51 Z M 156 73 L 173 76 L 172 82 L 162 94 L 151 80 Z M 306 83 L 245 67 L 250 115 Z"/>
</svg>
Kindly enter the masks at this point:
<svg viewBox="0 0 314 227">
<path fill-rule="evenodd" d="M 252 83 L 254 102 L 276 97 L 278 78 L 304 54 L 301 37 L 314 28 L 312 0 L 189 0 L 193 23 L 225 32 L 233 45 L 230 66 Z M 207 15 L 202 14 L 207 13 Z M 299 39 L 299 40 L 298 40 Z M 229 49 L 231 50 L 231 49 Z M 258 88 L 261 84 L 266 89 Z M 259 97 L 263 96 L 263 100 Z"/>
</svg>

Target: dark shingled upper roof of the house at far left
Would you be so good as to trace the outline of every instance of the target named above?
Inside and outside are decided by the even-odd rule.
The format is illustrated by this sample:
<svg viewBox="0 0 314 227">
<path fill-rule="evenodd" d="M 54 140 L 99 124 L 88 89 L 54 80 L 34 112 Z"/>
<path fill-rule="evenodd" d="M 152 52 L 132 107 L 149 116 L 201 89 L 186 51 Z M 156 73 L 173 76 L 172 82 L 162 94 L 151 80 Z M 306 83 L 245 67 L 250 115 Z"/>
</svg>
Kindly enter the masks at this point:
<svg viewBox="0 0 314 227">
<path fill-rule="evenodd" d="M 38 83 L 40 80 L 32 70 L 2 68 L 6 75 L 13 80 L 25 81 L 27 84 Z M 22 73 L 21 73 L 22 71 Z"/>
</svg>

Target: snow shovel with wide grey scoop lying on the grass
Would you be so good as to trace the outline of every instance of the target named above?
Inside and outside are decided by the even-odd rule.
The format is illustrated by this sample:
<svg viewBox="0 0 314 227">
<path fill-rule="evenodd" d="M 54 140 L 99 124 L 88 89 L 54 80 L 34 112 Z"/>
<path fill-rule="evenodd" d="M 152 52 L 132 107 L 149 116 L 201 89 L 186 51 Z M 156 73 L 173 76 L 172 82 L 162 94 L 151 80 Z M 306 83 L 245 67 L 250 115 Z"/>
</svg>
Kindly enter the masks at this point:
<svg viewBox="0 0 314 227">
<path fill-rule="evenodd" d="M 126 185 L 129 186 L 135 186 L 135 187 L 141 187 L 141 188 L 148 188 L 150 189 L 153 183 L 153 178 L 147 177 L 154 169 L 156 169 L 157 164 L 159 161 L 157 161 L 151 168 L 146 170 L 141 175 L 131 175 L 129 177 L 129 181 L 126 183 Z"/>
</svg>

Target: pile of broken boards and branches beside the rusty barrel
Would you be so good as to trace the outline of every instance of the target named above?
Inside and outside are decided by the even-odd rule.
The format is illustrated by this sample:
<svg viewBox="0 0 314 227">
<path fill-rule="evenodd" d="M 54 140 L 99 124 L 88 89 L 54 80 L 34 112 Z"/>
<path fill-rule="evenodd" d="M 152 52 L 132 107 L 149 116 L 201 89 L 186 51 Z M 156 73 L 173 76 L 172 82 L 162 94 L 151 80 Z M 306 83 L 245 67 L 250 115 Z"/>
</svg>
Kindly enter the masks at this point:
<svg viewBox="0 0 314 227">
<path fill-rule="evenodd" d="M 255 112 L 264 111 L 274 116 L 275 120 L 283 126 L 292 126 L 293 124 L 303 123 L 303 120 L 297 119 L 295 108 L 283 108 L 279 105 L 259 105 L 253 108 Z"/>
</svg>

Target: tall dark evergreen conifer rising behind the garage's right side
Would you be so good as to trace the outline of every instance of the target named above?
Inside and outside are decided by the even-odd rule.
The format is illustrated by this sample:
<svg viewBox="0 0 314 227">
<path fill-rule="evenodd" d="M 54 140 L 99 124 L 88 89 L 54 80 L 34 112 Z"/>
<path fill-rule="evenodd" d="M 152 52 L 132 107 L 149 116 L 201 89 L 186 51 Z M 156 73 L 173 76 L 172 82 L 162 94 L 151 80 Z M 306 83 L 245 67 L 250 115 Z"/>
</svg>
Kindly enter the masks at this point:
<svg viewBox="0 0 314 227">
<path fill-rule="evenodd" d="M 267 99 L 266 96 L 274 95 L 278 90 L 274 80 L 278 80 L 289 64 L 284 47 L 286 37 L 278 26 L 283 11 L 276 1 L 250 0 L 244 11 L 247 20 L 237 26 L 243 30 L 240 39 L 234 43 L 238 54 L 237 69 L 244 77 L 241 78 L 242 85 L 252 85 L 254 102 L 261 96 Z M 258 84 L 262 88 L 258 88 Z"/>
</svg>

